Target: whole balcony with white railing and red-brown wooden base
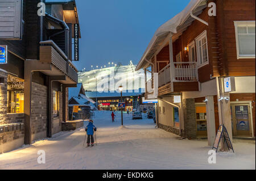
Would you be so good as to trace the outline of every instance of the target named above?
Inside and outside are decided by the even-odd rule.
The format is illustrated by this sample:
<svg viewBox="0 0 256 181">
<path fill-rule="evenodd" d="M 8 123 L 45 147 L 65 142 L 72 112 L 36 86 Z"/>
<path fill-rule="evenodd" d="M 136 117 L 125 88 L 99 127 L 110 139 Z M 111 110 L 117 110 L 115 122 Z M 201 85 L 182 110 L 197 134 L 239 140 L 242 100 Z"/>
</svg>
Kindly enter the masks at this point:
<svg viewBox="0 0 256 181">
<path fill-rule="evenodd" d="M 197 62 L 174 62 L 158 73 L 158 95 L 198 91 Z"/>
</svg>

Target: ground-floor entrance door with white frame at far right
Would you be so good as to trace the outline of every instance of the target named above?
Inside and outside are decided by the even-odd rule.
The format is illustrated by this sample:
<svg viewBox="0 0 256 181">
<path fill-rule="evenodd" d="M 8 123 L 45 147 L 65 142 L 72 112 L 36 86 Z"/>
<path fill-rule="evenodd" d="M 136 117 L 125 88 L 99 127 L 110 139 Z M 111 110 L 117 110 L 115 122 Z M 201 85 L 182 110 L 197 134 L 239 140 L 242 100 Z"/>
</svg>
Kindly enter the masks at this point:
<svg viewBox="0 0 256 181">
<path fill-rule="evenodd" d="M 237 137 L 251 137 L 250 104 L 231 104 L 232 133 Z"/>
</svg>

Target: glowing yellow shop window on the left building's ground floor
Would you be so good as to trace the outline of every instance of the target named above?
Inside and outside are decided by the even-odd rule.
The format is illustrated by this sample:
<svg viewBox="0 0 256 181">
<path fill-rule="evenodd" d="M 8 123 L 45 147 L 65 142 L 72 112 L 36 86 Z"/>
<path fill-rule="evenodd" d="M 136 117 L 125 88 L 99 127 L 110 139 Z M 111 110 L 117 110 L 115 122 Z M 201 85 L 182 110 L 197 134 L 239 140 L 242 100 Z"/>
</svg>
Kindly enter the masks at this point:
<svg viewBox="0 0 256 181">
<path fill-rule="evenodd" d="M 24 80 L 10 74 L 7 78 L 7 113 L 24 113 Z"/>
</svg>

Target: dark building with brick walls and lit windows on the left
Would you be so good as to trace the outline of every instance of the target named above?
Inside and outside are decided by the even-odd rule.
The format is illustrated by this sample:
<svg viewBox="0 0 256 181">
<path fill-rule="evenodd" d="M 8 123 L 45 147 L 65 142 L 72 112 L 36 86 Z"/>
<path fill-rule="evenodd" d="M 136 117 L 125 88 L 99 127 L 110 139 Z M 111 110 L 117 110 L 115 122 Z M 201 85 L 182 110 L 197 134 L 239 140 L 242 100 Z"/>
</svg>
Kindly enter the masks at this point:
<svg viewBox="0 0 256 181">
<path fill-rule="evenodd" d="M 68 87 L 78 80 L 75 24 L 75 0 L 0 0 L 0 47 L 7 55 L 0 64 L 2 151 L 52 137 L 68 119 Z"/>
</svg>

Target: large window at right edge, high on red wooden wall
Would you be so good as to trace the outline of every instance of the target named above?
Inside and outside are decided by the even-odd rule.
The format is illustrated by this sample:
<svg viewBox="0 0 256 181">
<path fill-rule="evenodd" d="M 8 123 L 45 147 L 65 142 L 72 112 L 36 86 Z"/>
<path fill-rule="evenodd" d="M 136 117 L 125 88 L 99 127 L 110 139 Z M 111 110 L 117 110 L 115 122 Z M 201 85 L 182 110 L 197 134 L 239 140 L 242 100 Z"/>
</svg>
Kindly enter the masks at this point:
<svg viewBox="0 0 256 181">
<path fill-rule="evenodd" d="M 255 21 L 234 22 L 237 59 L 255 58 Z"/>
</svg>

